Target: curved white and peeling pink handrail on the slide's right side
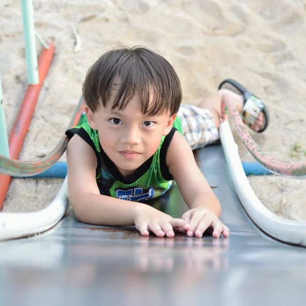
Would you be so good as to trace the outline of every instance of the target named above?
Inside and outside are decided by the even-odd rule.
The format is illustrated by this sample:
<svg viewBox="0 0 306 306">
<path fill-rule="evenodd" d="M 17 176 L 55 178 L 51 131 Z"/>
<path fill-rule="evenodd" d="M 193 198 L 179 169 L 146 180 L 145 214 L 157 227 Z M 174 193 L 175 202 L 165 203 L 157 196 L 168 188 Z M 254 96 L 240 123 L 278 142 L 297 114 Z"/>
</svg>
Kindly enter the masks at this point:
<svg viewBox="0 0 306 306">
<path fill-rule="evenodd" d="M 305 163 L 283 163 L 266 155 L 246 131 L 238 110 L 227 98 L 222 97 L 222 123 L 220 124 L 220 140 L 237 195 L 250 218 L 268 235 L 288 243 L 306 246 L 306 222 L 287 220 L 272 214 L 258 199 L 249 185 L 238 154 L 238 146 L 234 141 L 227 120 L 227 109 L 234 121 L 240 139 L 265 168 L 275 174 L 302 178 L 306 176 Z"/>
</svg>

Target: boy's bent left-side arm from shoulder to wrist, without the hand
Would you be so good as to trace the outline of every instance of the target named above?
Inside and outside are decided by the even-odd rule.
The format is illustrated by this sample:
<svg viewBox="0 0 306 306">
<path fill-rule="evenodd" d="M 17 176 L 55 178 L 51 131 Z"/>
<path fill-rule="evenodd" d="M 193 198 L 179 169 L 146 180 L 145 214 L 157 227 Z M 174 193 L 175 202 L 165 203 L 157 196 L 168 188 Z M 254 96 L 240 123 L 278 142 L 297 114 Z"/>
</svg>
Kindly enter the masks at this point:
<svg viewBox="0 0 306 306">
<path fill-rule="evenodd" d="M 67 147 L 68 191 L 75 217 L 91 224 L 133 225 L 135 205 L 127 202 L 120 210 L 114 212 L 120 201 L 100 195 L 96 183 L 97 158 L 93 149 L 79 136 L 74 135 Z M 115 201 L 114 201 L 115 200 Z M 101 209 L 103 203 L 104 209 Z M 109 206 L 114 209 L 108 209 Z M 127 208 L 127 209 L 125 209 Z"/>
</svg>

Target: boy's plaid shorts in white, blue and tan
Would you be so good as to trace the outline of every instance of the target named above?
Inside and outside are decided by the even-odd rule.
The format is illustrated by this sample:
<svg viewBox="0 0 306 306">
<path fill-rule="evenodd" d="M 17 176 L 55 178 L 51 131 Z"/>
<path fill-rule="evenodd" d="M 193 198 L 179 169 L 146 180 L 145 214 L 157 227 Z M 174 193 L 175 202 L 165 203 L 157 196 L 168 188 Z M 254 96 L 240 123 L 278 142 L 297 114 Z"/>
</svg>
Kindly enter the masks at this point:
<svg viewBox="0 0 306 306">
<path fill-rule="evenodd" d="M 183 135 L 193 150 L 219 139 L 215 119 L 209 110 L 182 104 L 177 116 L 182 122 Z"/>
</svg>

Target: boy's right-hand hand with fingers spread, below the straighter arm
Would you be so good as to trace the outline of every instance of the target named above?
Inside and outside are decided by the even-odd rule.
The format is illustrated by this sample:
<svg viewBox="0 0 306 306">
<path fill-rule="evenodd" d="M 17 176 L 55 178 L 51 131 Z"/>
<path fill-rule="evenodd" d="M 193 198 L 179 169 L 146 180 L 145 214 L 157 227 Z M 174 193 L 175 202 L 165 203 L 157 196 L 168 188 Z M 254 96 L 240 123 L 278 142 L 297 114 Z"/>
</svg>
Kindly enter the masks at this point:
<svg viewBox="0 0 306 306">
<path fill-rule="evenodd" d="M 221 233 L 224 237 L 230 236 L 230 230 L 219 218 L 204 207 L 196 207 L 186 212 L 182 219 L 190 224 L 188 231 L 180 229 L 181 233 L 187 233 L 187 236 L 201 238 L 206 230 L 209 230 L 214 238 L 219 238 Z"/>
</svg>

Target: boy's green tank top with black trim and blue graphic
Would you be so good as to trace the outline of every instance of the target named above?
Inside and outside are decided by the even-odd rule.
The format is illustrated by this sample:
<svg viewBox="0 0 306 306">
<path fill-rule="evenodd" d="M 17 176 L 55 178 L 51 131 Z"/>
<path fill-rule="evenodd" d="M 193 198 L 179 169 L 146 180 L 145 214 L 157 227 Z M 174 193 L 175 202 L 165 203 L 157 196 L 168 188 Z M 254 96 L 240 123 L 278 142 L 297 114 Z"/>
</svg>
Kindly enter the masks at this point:
<svg viewBox="0 0 306 306">
<path fill-rule="evenodd" d="M 122 200 L 144 201 L 164 194 L 172 184 L 173 177 L 166 165 L 166 155 L 175 131 L 182 132 L 181 120 L 176 116 L 170 133 L 162 137 L 155 154 L 145 161 L 134 174 L 126 178 L 109 159 L 100 145 L 97 130 L 89 126 L 85 114 L 78 126 L 67 130 L 69 139 L 78 134 L 94 150 L 97 157 L 96 182 L 100 194 Z"/>
</svg>

